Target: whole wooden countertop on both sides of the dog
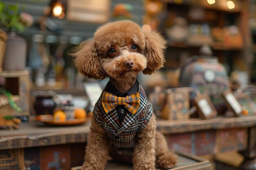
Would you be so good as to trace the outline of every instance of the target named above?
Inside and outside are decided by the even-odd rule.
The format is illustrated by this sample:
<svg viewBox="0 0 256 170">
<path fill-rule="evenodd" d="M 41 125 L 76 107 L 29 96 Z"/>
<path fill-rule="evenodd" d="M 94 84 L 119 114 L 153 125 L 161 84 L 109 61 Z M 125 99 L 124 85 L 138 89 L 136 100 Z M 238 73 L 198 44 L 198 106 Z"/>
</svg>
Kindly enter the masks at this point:
<svg viewBox="0 0 256 170">
<path fill-rule="evenodd" d="M 164 134 L 253 126 L 256 126 L 256 116 L 186 121 L 157 120 L 157 129 Z M 22 123 L 20 129 L 0 130 L 0 150 L 86 142 L 89 127 L 90 122 L 77 126 L 46 126 L 41 122 Z"/>
</svg>

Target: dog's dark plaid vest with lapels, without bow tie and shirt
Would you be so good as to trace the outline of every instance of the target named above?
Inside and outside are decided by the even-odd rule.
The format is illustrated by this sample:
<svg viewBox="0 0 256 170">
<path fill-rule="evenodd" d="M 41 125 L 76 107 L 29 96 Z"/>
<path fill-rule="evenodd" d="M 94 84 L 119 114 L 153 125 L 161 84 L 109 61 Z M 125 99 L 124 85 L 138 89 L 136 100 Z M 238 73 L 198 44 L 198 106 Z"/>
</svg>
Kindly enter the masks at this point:
<svg viewBox="0 0 256 170">
<path fill-rule="evenodd" d="M 102 105 L 103 93 L 94 106 L 95 120 L 99 126 L 106 130 L 117 153 L 131 156 L 135 148 L 135 137 L 146 127 L 153 114 L 152 106 L 139 83 L 139 107 L 134 114 L 128 112 L 123 122 L 119 124 L 116 109 L 112 109 L 106 114 Z"/>
</svg>

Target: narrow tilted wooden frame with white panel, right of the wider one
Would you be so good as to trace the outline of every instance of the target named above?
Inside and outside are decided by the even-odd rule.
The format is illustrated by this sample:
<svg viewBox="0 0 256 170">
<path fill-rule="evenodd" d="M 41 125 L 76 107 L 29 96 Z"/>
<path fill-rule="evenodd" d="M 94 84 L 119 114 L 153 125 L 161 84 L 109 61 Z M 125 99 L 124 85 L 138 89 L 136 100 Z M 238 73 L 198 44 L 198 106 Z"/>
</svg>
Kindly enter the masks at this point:
<svg viewBox="0 0 256 170">
<path fill-rule="evenodd" d="M 234 113 L 234 116 L 240 116 L 243 111 L 243 106 L 240 104 L 234 93 L 231 90 L 226 90 L 223 92 L 222 97 L 225 100 L 228 109 Z"/>
</svg>

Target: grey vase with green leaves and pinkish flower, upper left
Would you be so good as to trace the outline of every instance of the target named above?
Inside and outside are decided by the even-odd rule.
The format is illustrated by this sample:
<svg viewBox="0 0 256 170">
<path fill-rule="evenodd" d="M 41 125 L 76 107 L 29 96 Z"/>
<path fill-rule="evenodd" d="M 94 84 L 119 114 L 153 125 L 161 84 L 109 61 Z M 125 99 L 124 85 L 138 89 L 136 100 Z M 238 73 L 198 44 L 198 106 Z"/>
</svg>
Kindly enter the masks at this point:
<svg viewBox="0 0 256 170">
<path fill-rule="evenodd" d="M 3 59 L 3 70 L 24 70 L 27 57 L 27 42 L 16 35 L 33 24 L 33 17 L 20 13 L 18 4 L 0 2 L 0 27 L 8 33 Z"/>
</svg>

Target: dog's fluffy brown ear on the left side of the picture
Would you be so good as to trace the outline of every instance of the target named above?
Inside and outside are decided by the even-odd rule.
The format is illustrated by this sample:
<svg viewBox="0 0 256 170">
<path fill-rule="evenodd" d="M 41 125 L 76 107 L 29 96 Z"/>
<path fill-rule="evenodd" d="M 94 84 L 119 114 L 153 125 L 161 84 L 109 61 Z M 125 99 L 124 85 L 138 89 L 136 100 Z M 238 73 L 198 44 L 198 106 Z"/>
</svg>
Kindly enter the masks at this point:
<svg viewBox="0 0 256 170">
<path fill-rule="evenodd" d="M 104 79 L 106 73 L 102 70 L 97 48 L 94 39 L 83 41 L 78 47 L 74 48 L 71 53 L 76 68 L 88 78 Z"/>
</svg>

